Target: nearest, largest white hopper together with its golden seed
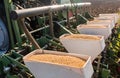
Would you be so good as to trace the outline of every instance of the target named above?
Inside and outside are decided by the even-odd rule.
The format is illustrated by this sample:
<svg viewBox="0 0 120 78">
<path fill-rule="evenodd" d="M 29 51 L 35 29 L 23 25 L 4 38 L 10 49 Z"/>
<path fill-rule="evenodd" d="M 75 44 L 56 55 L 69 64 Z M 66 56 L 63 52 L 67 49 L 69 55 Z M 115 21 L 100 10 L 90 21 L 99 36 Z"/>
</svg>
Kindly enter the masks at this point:
<svg viewBox="0 0 120 78">
<path fill-rule="evenodd" d="M 47 59 L 45 56 L 34 56 L 44 54 L 50 54 L 54 56 L 47 56 Z M 59 58 L 61 56 L 62 58 Z M 70 57 L 70 59 L 68 57 Z M 77 60 L 83 60 L 84 64 L 81 67 L 69 65 L 69 63 L 82 63 L 79 61 L 75 62 L 75 59 L 71 57 L 74 57 L 75 59 L 77 58 Z M 26 66 L 33 73 L 35 78 L 91 78 L 93 74 L 91 57 L 87 55 L 63 53 L 49 50 L 35 50 L 24 56 L 23 59 Z M 42 59 L 42 61 L 40 61 L 40 59 Z M 46 60 L 52 60 L 52 62 Z M 61 63 L 57 63 L 56 61 Z M 67 65 L 63 65 L 63 63 L 66 61 Z"/>
</svg>

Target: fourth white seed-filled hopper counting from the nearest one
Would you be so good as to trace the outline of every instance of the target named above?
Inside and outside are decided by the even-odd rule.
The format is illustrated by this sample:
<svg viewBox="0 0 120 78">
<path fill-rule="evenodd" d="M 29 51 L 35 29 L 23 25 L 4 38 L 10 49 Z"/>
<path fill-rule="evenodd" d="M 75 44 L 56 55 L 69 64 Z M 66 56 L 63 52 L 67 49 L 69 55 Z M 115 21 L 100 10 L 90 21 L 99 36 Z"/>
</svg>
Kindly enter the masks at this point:
<svg viewBox="0 0 120 78">
<path fill-rule="evenodd" d="M 104 24 L 104 25 L 110 25 L 111 29 L 115 26 L 115 24 L 112 22 L 112 20 L 99 20 L 95 19 L 93 21 L 87 22 L 87 24 Z"/>
</svg>

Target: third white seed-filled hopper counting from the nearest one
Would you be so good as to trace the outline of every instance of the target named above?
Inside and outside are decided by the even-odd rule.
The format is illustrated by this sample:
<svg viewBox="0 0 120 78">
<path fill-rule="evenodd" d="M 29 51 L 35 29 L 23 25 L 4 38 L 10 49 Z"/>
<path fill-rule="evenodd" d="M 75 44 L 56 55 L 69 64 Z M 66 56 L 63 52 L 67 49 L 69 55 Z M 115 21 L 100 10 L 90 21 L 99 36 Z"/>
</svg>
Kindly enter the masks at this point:
<svg viewBox="0 0 120 78">
<path fill-rule="evenodd" d="M 77 30 L 81 34 L 89 34 L 89 35 L 102 35 L 105 39 L 107 39 L 111 35 L 110 26 L 100 25 L 100 24 L 81 24 L 77 26 Z"/>
</svg>

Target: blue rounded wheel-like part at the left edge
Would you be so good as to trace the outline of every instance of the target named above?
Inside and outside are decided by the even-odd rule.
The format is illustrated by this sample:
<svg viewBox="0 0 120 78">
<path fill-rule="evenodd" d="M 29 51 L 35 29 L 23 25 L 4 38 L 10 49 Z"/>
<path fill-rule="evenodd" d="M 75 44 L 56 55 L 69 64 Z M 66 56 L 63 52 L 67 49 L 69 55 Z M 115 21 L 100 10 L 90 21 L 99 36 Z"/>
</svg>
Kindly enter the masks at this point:
<svg viewBox="0 0 120 78">
<path fill-rule="evenodd" d="M 9 48 L 9 37 L 5 24 L 0 19 L 0 55 L 7 52 Z"/>
</svg>

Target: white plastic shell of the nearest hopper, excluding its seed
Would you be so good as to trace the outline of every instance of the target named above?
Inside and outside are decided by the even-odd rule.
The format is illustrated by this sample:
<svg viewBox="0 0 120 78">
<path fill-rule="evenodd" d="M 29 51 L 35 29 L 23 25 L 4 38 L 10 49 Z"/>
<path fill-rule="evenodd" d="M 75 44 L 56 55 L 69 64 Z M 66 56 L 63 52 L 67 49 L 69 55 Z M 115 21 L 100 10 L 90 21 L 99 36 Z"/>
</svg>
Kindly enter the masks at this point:
<svg viewBox="0 0 120 78">
<path fill-rule="evenodd" d="M 41 52 L 41 50 L 35 50 L 23 58 L 26 66 L 33 73 L 35 78 L 91 78 L 94 72 L 91 64 L 91 57 L 87 55 L 44 50 L 44 53 L 48 54 L 74 56 L 84 59 L 86 62 L 82 68 L 64 66 L 50 62 L 31 61 L 28 59 L 33 55 L 41 54 Z"/>
</svg>

